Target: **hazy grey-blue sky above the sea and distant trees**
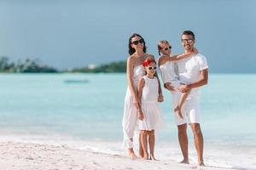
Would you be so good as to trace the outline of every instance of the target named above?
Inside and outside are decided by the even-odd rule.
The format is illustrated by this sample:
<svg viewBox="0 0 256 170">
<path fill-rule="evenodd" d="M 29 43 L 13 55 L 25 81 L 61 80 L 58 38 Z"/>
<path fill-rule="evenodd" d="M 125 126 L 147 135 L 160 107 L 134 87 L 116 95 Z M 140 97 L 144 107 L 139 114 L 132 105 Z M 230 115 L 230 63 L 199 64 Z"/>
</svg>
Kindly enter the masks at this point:
<svg viewBox="0 0 256 170">
<path fill-rule="evenodd" d="M 157 42 L 181 54 L 180 35 L 191 30 L 210 72 L 256 73 L 255 8 L 255 0 L 0 0 L 0 56 L 101 65 L 127 59 L 137 32 L 158 58 Z"/>
</svg>

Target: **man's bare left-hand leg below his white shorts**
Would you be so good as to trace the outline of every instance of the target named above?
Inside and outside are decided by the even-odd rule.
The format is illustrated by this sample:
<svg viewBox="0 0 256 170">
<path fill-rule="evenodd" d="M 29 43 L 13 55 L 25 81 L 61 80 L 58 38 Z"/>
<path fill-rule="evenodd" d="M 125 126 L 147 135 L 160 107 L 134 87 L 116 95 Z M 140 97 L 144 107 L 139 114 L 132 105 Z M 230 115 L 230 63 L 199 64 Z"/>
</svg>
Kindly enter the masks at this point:
<svg viewBox="0 0 256 170">
<path fill-rule="evenodd" d="M 178 142 L 180 145 L 180 148 L 183 152 L 183 161 L 181 163 L 187 163 L 189 164 L 189 144 L 188 144 L 188 135 L 187 135 L 187 124 L 178 125 Z"/>
</svg>

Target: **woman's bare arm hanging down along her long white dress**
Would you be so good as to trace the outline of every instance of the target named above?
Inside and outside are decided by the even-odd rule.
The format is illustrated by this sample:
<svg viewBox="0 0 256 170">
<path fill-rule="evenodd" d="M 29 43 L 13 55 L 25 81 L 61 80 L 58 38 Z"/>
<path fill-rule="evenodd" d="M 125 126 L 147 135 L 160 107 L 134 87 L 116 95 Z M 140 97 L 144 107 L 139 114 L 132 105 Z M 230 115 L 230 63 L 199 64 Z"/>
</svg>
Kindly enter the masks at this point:
<svg viewBox="0 0 256 170">
<path fill-rule="evenodd" d="M 126 78 L 127 78 L 128 87 L 131 91 L 131 95 L 132 95 L 132 98 L 133 98 L 133 104 L 138 109 L 139 101 L 137 99 L 137 92 L 135 90 L 135 87 L 133 86 L 132 77 L 133 77 L 133 60 L 131 59 L 131 57 L 129 57 L 127 59 L 127 64 L 126 64 Z"/>
</svg>

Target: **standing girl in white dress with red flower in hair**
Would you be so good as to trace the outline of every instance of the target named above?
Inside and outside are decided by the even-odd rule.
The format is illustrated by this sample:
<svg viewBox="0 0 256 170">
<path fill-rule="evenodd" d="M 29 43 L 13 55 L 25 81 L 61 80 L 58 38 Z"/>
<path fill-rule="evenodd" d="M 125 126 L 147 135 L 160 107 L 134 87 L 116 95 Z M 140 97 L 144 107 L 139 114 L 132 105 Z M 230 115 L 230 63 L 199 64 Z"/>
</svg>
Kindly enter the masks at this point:
<svg viewBox="0 0 256 170">
<path fill-rule="evenodd" d="M 143 62 L 146 70 L 146 76 L 140 78 L 137 91 L 138 99 L 141 101 L 141 106 L 138 111 L 140 138 L 143 147 L 143 159 L 148 160 L 148 144 L 150 150 L 149 159 L 154 158 L 154 129 L 164 126 L 163 117 L 160 114 L 160 106 L 158 101 L 162 101 L 158 91 L 160 85 L 156 72 L 156 62 L 154 59 L 146 59 Z"/>
</svg>

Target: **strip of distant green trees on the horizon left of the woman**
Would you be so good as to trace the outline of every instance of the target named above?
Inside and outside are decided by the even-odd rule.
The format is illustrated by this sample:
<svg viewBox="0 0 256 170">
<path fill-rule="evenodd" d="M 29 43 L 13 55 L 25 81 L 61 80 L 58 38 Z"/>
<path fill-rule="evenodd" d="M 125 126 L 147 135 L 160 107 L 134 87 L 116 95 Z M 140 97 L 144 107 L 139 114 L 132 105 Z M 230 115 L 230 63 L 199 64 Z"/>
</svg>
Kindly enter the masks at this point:
<svg viewBox="0 0 256 170">
<path fill-rule="evenodd" d="M 105 65 L 85 66 L 83 68 L 74 68 L 66 71 L 58 71 L 48 65 L 41 64 L 38 59 L 19 60 L 18 62 L 9 62 L 8 57 L 0 57 L 0 72 L 5 73 L 43 73 L 43 72 L 125 72 L 126 61 L 112 62 Z"/>
</svg>

